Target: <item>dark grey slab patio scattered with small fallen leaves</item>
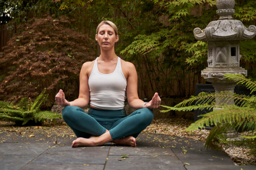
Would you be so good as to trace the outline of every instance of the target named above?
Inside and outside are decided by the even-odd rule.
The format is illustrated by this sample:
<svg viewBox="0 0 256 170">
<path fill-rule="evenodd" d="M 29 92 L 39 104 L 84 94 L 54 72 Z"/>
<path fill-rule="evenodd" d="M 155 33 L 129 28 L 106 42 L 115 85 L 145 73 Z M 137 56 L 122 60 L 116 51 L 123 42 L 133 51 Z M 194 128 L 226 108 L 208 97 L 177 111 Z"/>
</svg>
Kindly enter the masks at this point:
<svg viewBox="0 0 256 170">
<path fill-rule="evenodd" d="M 106 143 L 98 147 L 71 148 L 74 138 L 59 136 L 49 140 L 1 133 L 1 170 L 255 170 L 256 166 L 236 166 L 223 151 L 206 150 L 204 143 L 185 137 L 141 133 L 137 146 Z M 53 140 L 53 141 L 51 141 Z M 127 155 L 129 154 L 129 155 Z M 121 158 L 127 155 L 126 158 Z"/>
</svg>

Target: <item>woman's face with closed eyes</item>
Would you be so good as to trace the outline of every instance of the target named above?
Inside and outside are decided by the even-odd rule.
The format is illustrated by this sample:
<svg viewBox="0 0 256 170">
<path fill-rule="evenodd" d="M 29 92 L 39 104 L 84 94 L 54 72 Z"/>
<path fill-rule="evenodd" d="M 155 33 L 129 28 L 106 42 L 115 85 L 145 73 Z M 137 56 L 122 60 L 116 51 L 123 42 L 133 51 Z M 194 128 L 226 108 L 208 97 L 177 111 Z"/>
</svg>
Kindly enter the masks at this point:
<svg viewBox="0 0 256 170">
<path fill-rule="evenodd" d="M 98 34 L 95 35 L 95 40 L 99 43 L 101 49 L 113 48 L 118 38 L 118 35 L 115 35 L 114 29 L 108 24 L 100 26 Z"/>
</svg>

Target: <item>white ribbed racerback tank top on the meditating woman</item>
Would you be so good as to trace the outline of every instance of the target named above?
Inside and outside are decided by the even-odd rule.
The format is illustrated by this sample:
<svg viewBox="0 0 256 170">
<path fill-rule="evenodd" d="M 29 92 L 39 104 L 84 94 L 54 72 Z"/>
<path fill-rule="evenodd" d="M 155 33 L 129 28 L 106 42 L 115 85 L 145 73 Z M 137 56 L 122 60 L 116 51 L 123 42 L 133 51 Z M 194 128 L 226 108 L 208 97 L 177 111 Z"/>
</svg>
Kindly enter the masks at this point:
<svg viewBox="0 0 256 170">
<path fill-rule="evenodd" d="M 88 79 L 90 105 L 106 110 L 123 109 L 127 81 L 122 71 L 121 58 L 118 57 L 116 68 L 110 74 L 99 72 L 97 59 Z"/>
</svg>

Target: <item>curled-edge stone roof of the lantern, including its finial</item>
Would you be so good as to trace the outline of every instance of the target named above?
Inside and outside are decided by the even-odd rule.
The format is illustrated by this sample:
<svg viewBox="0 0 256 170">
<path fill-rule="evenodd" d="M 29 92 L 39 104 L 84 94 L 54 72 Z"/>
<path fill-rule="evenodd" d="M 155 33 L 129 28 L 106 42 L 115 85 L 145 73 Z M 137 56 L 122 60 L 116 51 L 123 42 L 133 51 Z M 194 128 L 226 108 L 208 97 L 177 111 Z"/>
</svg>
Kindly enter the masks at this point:
<svg viewBox="0 0 256 170">
<path fill-rule="evenodd" d="M 194 29 L 194 36 L 200 41 L 242 41 L 254 38 L 256 27 L 246 28 L 239 20 L 233 20 L 235 13 L 234 0 L 217 0 L 216 13 L 220 16 L 217 21 L 210 22 L 204 30 Z"/>
</svg>

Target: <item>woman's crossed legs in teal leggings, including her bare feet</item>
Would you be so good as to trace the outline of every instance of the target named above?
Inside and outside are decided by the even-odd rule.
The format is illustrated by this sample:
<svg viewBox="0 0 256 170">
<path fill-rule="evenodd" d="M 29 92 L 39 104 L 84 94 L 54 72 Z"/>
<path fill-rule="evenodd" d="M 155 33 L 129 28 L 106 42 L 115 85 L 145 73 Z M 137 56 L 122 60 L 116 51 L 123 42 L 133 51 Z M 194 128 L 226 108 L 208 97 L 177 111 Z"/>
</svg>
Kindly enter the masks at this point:
<svg viewBox="0 0 256 170">
<path fill-rule="evenodd" d="M 120 145 L 130 145 L 135 147 L 135 137 L 137 137 L 137 135 L 146 128 L 153 119 L 153 113 L 149 109 L 144 108 L 142 110 L 137 110 L 131 115 L 116 121 L 114 128 L 112 128 L 110 132 L 102 127 L 91 116 L 85 114 L 81 108 L 67 106 L 63 109 L 62 115 L 66 123 L 78 136 L 78 138 L 72 142 L 72 147 L 99 146 L 110 141 Z M 84 123 L 88 121 L 91 126 Z M 90 132 L 85 133 L 83 132 L 84 130 Z M 80 137 L 79 135 L 82 133 L 89 134 L 89 136 L 90 134 L 92 135 L 89 138 L 84 138 L 84 136 Z"/>
</svg>

